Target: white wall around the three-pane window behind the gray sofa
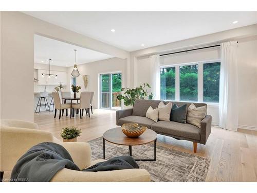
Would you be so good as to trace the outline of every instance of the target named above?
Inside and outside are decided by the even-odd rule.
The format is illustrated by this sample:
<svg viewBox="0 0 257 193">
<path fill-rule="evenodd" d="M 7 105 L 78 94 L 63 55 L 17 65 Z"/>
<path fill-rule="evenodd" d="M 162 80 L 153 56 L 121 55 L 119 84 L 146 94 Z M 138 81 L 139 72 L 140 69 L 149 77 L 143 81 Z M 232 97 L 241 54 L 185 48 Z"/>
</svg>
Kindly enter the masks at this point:
<svg viewBox="0 0 257 193">
<path fill-rule="evenodd" d="M 189 63 L 205 60 L 220 59 L 220 49 L 212 48 L 167 55 L 161 57 L 160 65 Z M 150 58 L 143 56 L 137 58 L 137 82 L 151 81 Z M 256 36 L 238 39 L 238 91 L 239 91 L 239 121 L 240 128 L 257 129 L 257 40 Z M 213 124 L 218 124 L 218 107 L 208 106 L 208 114 L 212 115 Z"/>
</svg>

